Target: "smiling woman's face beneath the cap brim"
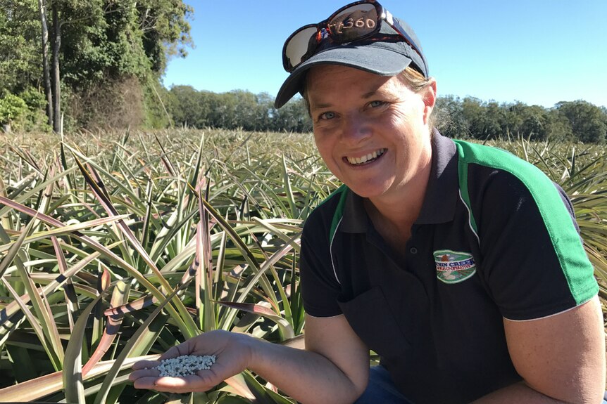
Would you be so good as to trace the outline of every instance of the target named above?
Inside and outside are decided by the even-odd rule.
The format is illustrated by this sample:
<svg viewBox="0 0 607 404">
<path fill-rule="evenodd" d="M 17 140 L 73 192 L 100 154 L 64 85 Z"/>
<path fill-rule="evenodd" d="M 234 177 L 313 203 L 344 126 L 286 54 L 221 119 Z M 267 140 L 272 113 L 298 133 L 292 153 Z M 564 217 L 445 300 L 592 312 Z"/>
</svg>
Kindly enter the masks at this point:
<svg viewBox="0 0 607 404">
<path fill-rule="evenodd" d="M 427 176 L 434 82 L 414 93 L 398 76 L 338 65 L 313 67 L 306 81 L 316 147 L 354 193 L 394 200 Z"/>
</svg>

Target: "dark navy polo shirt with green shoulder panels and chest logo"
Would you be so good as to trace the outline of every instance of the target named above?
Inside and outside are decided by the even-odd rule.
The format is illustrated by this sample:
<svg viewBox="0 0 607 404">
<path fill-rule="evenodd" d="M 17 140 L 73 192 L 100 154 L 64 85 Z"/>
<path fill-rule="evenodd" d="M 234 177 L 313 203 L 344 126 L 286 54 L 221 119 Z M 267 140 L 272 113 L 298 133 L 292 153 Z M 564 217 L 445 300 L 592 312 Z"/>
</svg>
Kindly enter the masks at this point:
<svg viewBox="0 0 607 404">
<path fill-rule="evenodd" d="M 520 381 L 503 318 L 553 315 L 598 292 L 563 190 L 509 152 L 437 131 L 402 250 L 342 186 L 303 227 L 300 271 L 306 312 L 343 313 L 414 403 L 468 403 Z"/>
</svg>

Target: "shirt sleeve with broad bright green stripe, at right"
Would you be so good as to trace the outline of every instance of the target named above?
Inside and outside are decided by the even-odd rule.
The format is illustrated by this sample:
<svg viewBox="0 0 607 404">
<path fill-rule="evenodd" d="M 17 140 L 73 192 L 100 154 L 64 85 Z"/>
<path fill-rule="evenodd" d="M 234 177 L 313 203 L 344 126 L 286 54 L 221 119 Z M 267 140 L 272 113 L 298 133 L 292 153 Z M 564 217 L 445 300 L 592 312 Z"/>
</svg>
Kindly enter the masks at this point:
<svg viewBox="0 0 607 404">
<path fill-rule="evenodd" d="M 473 202 L 481 275 L 504 318 L 531 320 L 583 304 L 598 292 L 565 193 L 549 178 L 484 173 Z M 539 170 L 538 170 L 539 171 Z"/>
</svg>

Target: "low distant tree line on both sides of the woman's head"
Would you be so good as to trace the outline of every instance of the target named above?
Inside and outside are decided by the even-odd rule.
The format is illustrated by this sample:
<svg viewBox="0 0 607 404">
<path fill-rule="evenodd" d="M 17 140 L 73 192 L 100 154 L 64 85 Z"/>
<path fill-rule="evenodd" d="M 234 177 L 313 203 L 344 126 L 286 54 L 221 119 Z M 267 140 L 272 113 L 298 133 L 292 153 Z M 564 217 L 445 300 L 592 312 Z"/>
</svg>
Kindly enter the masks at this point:
<svg viewBox="0 0 607 404">
<path fill-rule="evenodd" d="M 167 99 L 168 111 L 177 126 L 289 132 L 312 129 L 301 98 L 276 110 L 274 98 L 267 93 L 213 93 L 197 91 L 192 86 L 173 86 Z M 524 137 L 584 143 L 601 143 L 607 138 L 607 108 L 583 100 L 563 101 L 546 108 L 442 96 L 437 100 L 435 119 L 439 130 L 452 138 L 484 141 Z"/>
</svg>

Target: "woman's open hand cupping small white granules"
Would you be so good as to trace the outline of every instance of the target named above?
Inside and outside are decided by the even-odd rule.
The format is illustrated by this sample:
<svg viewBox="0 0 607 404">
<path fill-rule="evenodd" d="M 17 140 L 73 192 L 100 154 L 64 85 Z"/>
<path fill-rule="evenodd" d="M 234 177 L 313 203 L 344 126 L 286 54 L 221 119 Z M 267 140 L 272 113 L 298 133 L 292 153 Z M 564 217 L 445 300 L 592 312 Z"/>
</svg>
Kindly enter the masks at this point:
<svg viewBox="0 0 607 404">
<path fill-rule="evenodd" d="M 205 332 L 188 339 L 183 344 L 173 346 L 163 353 L 160 360 L 177 358 L 183 355 L 215 355 L 215 363 L 210 370 L 199 370 L 196 374 L 184 377 L 160 377 L 154 367 L 158 360 L 142 360 L 134 363 L 129 380 L 136 389 L 153 389 L 171 393 L 207 391 L 228 377 L 242 372 L 251 362 L 251 337 L 223 330 Z"/>
</svg>

